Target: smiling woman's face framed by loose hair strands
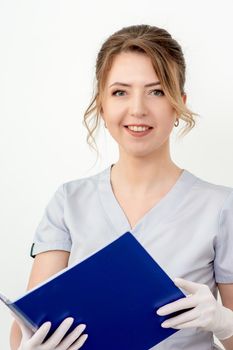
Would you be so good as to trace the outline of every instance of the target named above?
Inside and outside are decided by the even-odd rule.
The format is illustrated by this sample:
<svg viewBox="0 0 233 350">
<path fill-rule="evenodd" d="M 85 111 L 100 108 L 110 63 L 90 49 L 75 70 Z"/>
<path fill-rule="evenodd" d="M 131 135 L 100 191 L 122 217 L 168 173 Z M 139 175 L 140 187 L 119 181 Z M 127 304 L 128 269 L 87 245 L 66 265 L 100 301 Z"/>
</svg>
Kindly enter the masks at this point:
<svg viewBox="0 0 233 350">
<path fill-rule="evenodd" d="M 145 156 L 166 145 L 176 113 L 146 54 L 127 52 L 115 57 L 105 85 L 102 117 L 120 149 L 127 153 Z M 129 124 L 152 128 L 139 137 L 139 132 L 130 133 Z"/>
</svg>

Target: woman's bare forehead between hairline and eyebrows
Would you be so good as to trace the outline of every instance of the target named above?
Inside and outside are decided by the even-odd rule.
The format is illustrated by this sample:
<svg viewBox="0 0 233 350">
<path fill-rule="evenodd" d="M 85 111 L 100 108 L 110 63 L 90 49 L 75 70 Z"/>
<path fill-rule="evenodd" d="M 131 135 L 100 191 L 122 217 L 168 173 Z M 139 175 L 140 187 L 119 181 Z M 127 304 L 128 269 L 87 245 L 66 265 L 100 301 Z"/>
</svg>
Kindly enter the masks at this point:
<svg viewBox="0 0 233 350">
<path fill-rule="evenodd" d="M 107 84 L 115 81 L 142 82 L 144 84 L 151 79 L 158 80 L 150 57 L 144 53 L 122 52 L 112 62 L 107 76 Z"/>
</svg>

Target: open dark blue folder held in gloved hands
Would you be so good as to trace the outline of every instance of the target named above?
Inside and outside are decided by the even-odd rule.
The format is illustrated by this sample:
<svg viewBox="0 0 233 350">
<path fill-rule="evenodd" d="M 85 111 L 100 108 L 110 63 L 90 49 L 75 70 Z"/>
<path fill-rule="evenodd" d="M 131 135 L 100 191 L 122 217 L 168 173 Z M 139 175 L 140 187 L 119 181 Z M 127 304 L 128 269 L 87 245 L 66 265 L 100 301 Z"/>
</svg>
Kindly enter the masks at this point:
<svg viewBox="0 0 233 350">
<path fill-rule="evenodd" d="M 87 325 L 83 350 L 148 350 L 179 331 L 163 328 L 161 323 L 181 311 L 159 316 L 156 310 L 184 297 L 146 249 L 126 232 L 14 302 L 1 299 L 34 331 L 51 321 L 45 341 L 71 316 L 74 322 L 66 335 L 80 323 Z"/>
</svg>

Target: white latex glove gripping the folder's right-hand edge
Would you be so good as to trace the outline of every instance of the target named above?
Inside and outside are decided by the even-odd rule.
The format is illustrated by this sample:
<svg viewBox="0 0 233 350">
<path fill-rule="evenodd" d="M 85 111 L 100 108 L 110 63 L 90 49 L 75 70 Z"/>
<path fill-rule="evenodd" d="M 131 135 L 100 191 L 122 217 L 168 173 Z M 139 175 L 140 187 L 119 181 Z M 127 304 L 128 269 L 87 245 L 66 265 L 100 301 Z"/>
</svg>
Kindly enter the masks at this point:
<svg viewBox="0 0 233 350">
<path fill-rule="evenodd" d="M 182 309 L 192 307 L 194 309 L 166 320 L 161 324 L 162 327 L 175 329 L 198 327 L 213 332 L 219 340 L 233 335 L 233 311 L 219 304 L 207 285 L 183 278 L 175 278 L 173 282 L 191 294 L 164 305 L 156 311 L 157 314 L 168 315 Z"/>
</svg>

